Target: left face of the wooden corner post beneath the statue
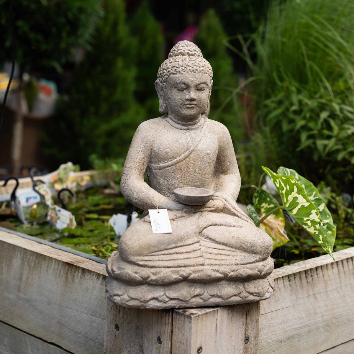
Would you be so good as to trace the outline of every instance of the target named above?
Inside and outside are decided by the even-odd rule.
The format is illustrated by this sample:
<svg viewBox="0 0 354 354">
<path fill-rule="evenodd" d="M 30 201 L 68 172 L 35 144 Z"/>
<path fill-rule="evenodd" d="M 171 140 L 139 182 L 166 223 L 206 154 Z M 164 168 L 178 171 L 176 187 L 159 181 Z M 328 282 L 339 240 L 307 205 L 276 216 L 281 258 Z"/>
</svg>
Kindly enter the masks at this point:
<svg viewBox="0 0 354 354">
<path fill-rule="evenodd" d="M 120 307 L 107 299 L 104 354 L 170 354 L 172 310 Z"/>
</svg>

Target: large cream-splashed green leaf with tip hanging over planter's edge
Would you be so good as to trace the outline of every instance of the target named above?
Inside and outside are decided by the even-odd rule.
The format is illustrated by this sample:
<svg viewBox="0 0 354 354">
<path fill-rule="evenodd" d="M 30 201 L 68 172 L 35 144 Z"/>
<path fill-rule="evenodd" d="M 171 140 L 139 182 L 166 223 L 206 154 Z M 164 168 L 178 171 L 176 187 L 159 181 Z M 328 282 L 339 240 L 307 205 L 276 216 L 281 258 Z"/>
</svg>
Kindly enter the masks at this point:
<svg viewBox="0 0 354 354">
<path fill-rule="evenodd" d="M 320 196 L 320 194 L 318 190 L 311 182 L 299 176 L 294 170 L 285 170 L 284 167 L 280 167 L 278 172 L 285 173 L 287 171 L 289 173 L 289 175 L 280 175 L 267 167 L 262 166 L 262 169 L 272 179 L 276 189 L 278 189 L 284 209 L 289 212 L 333 258 L 332 250 L 335 239 L 335 226 L 333 225 L 328 210 L 323 214 L 324 219 L 321 219 L 320 212 L 314 204 L 314 202 L 316 202 L 316 204 L 319 202 L 318 196 Z M 294 173 L 296 176 L 292 176 L 290 173 Z M 301 183 L 299 183 L 297 179 L 301 180 Z M 305 181 L 306 183 L 304 183 Z M 303 187 L 305 184 L 309 188 L 309 194 L 307 194 L 306 189 Z M 326 208 L 326 204 L 322 197 L 321 199 L 318 206 L 319 209 L 323 211 Z"/>
</svg>

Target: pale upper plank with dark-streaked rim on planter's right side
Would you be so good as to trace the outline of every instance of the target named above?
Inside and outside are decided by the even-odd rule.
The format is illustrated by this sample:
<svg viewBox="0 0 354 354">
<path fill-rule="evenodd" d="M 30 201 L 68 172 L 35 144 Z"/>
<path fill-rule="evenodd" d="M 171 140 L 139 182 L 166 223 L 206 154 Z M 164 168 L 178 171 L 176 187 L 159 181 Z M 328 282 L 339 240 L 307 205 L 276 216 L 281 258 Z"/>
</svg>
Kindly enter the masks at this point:
<svg viewBox="0 0 354 354">
<path fill-rule="evenodd" d="M 259 354 L 316 354 L 354 338 L 354 247 L 334 255 L 274 270 L 274 294 L 260 303 Z"/>
</svg>

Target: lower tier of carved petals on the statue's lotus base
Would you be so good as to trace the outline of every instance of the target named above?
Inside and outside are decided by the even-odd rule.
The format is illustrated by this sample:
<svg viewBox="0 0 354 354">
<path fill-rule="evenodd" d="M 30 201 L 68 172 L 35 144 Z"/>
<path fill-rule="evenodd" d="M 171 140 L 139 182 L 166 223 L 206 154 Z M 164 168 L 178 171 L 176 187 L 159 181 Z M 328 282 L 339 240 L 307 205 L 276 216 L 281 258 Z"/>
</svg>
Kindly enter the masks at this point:
<svg viewBox="0 0 354 354">
<path fill-rule="evenodd" d="M 156 286 L 129 285 L 112 278 L 106 282 L 107 297 L 124 307 L 181 308 L 242 304 L 268 299 L 274 289 L 271 276 L 246 282 L 222 280 L 214 283 L 190 283 Z"/>
</svg>

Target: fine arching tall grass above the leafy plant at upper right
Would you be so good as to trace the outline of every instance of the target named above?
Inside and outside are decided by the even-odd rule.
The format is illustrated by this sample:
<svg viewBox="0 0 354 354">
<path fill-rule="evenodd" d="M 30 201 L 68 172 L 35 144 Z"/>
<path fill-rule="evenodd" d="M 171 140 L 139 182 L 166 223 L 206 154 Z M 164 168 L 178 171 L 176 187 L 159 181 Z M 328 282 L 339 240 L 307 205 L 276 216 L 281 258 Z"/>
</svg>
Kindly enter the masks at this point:
<svg viewBox="0 0 354 354">
<path fill-rule="evenodd" d="M 353 94 L 353 21 L 352 0 L 274 2 L 254 36 L 257 63 L 251 67 L 263 76 L 261 98 L 273 97 L 282 84 L 311 93 L 321 87 L 331 97 L 344 86 Z"/>
</svg>

